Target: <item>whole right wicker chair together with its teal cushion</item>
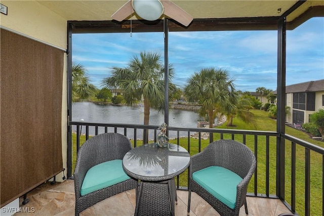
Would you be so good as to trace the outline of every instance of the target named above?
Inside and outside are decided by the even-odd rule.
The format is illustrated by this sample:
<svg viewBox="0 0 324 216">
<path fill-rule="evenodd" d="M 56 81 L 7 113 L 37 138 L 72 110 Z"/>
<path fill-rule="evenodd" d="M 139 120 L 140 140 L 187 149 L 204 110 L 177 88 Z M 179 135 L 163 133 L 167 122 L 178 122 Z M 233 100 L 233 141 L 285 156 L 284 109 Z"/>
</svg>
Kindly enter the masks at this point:
<svg viewBox="0 0 324 216">
<path fill-rule="evenodd" d="M 225 186 L 225 184 L 228 184 L 228 180 L 231 181 L 232 177 L 222 181 L 221 176 L 223 176 L 223 173 L 213 173 L 216 169 L 210 168 L 214 167 L 225 170 L 225 172 L 227 171 L 228 174 L 234 175 L 235 178 L 237 177 L 235 179 L 236 183 L 231 183 L 231 185 Z M 256 159 L 252 151 L 244 144 L 234 140 L 215 141 L 209 144 L 209 146 L 207 146 L 202 152 L 192 156 L 189 166 L 188 215 L 190 213 L 191 191 L 194 191 L 206 200 L 220 215 L 238 215 L 239 209 L 242 205 L 245 205 L 245 211 L 246 214 L 248 214 L 246 202 L 247 187 L 252 178 L 255 167 Z M 205 182 L 199 182 L 199 185 L 196 182 L 198 181 L 196 175 L 199 173 L 197 171 L 201 170 L 205 171 L 205 179 L 201 178 L 201 180 Z M 207 170 L 210 172 L 206 172 Z M 193 180 L 193 175 L 196 181 Z M 228 176 L 225 175 L 225 177 L 227 178 Z M 208 183 L 205 184 L 208 181 L 210 181 L 209 186 L 211 187 L 208 186 Z M 215 183 L 216 181 L 218 183 Z M 201 185 L 204 185 L 204 187 Z M 231 186 L 231 188 L 229 188 L 229 186 Z M 232 192 L 232 196 L 230 197 L 232 200 L 230 205 L 231 207 L 228 206 L 228 203 L 224 204 L 224 197 L 228 196 L 228 189 L 231 189 Z M 212 191 L 214 195 L 208 191 Z"/>
</svg>

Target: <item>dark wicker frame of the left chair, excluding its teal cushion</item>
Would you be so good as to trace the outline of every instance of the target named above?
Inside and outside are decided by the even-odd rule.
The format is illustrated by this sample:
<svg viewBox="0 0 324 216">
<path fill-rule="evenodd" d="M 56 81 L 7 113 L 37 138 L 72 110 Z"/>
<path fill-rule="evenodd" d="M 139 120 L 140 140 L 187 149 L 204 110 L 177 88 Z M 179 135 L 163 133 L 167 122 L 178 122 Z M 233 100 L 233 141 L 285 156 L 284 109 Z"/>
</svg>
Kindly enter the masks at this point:
<svg viewBox="0 0 324 216">
<path fill-rule="evenodd" d="M 90 168 L 98 164 L 103 164 L 107 161 L 116 161 L 117 159 L 123 160 L 124 155 L 131 150 L 131 148 L 132 145 L 130 140 L 126 136 L 116 133 L 97 135 L 87 140 L 84 145 L 80 147 L 77 153 L 73 175 L 75 190 L 75 215 L 79 215 L 81 211 L 108 197 L 134 188 L 136 188 L 137 197 L 138 180 L 132 178 L 109 187 L 81 195 L 82 185 Z M 119 170 L 119 172 L 124 172 L 124 170 Z M 109 174 L 109 176 L 111 176 L 111 174 Z M 97 178 L 100 177 L 101 175 L 98 174 Z"/>
</svg>

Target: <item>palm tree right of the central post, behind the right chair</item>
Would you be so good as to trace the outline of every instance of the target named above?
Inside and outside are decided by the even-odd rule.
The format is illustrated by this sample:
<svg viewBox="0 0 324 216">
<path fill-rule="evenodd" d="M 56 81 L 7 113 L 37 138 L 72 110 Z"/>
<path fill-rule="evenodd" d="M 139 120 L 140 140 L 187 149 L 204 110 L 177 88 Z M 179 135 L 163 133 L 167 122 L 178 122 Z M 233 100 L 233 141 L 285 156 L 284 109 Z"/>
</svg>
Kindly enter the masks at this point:
<svg viewBox="0 0 324 216">
<path fill-rule="evenodd" d="M 209 127 L 213 128 L 214 112 L 228 112 L 235 110 L 235 105 L 230 103 L 232 93 L 235 92 L 233 79 L 229 79 L 229 72 L 214 67 L 201 69 L 195 72 L 184 88 L 184 94 L 189 101 L 197 101 L 201 108 L 200 116 L 209 116 Z M 234 97 L 232 97 L 234 98 Z M 210 141 L 213 141 L 212 133 Z"/>
</svg>

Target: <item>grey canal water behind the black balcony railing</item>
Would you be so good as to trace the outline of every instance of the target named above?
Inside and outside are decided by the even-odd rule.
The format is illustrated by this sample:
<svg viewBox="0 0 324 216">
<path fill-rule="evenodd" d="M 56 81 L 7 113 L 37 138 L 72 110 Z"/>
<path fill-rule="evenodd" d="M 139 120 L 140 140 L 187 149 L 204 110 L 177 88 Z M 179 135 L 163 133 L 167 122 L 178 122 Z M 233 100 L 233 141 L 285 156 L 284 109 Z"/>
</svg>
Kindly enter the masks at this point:
<svg viewBox="0 0 324 216">
<path fill-rule="evenodd" d="M 125 124 L 143 124 L 144 107 L 139 105 L 135 107 L 120 105 L 100 105 L 91 102 L 72 103 L 72 121 L 80 121 L 92 123 L 125 123 Z M 173 127 L 197 127 L 199 116 L 197 112 L 189 110 L 172 109 L 169 111 L 169 126 Z M 164 114 L 157 110 L 150 109 L 150 125 L 160 125 L 164 122 Z M 75 126 L 72 128 L 75 130 Z M 108 128 L 108 132 L 113 132 L 113 128 Z M 118 133 L 124 134 L 123 128 L 118 128 Z M 86 133 L 85 127 L 82 133 Z M 99 134 L 104 133 L 104 128 L 99 128 Z M 89 134 L 95 134 L 95 128 L 89 127 Z M 192 133 L 193 134 L 193 133 Z M 134 129 L 127 130 L 127 136 L 134 138 Z M 169 138 L 176 137 L 176 132 L 169 132 Z M 180 136 L 187 136 L 187 132 L 180 132 Z M 137 130 L 137 139 L 142 138 L 142 130 Z M 149 139 L 153 139 L 154 134 L 149 133 Z"/>
</svg>

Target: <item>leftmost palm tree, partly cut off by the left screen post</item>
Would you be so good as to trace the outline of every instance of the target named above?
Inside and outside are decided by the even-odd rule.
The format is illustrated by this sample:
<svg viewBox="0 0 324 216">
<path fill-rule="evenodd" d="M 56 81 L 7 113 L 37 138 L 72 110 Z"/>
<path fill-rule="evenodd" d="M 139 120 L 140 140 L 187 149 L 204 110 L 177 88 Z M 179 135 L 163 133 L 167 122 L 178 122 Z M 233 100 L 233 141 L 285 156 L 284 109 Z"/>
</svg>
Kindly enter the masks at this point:
<svg viewBox="0 0 324 216">
<path fill-rule="evenodd" d="M 72 101 L 90 99 L 97 93 L 95 85 L 90 83 L 86 68 L 79 63 L 72 62 Z"/>
</svg>

